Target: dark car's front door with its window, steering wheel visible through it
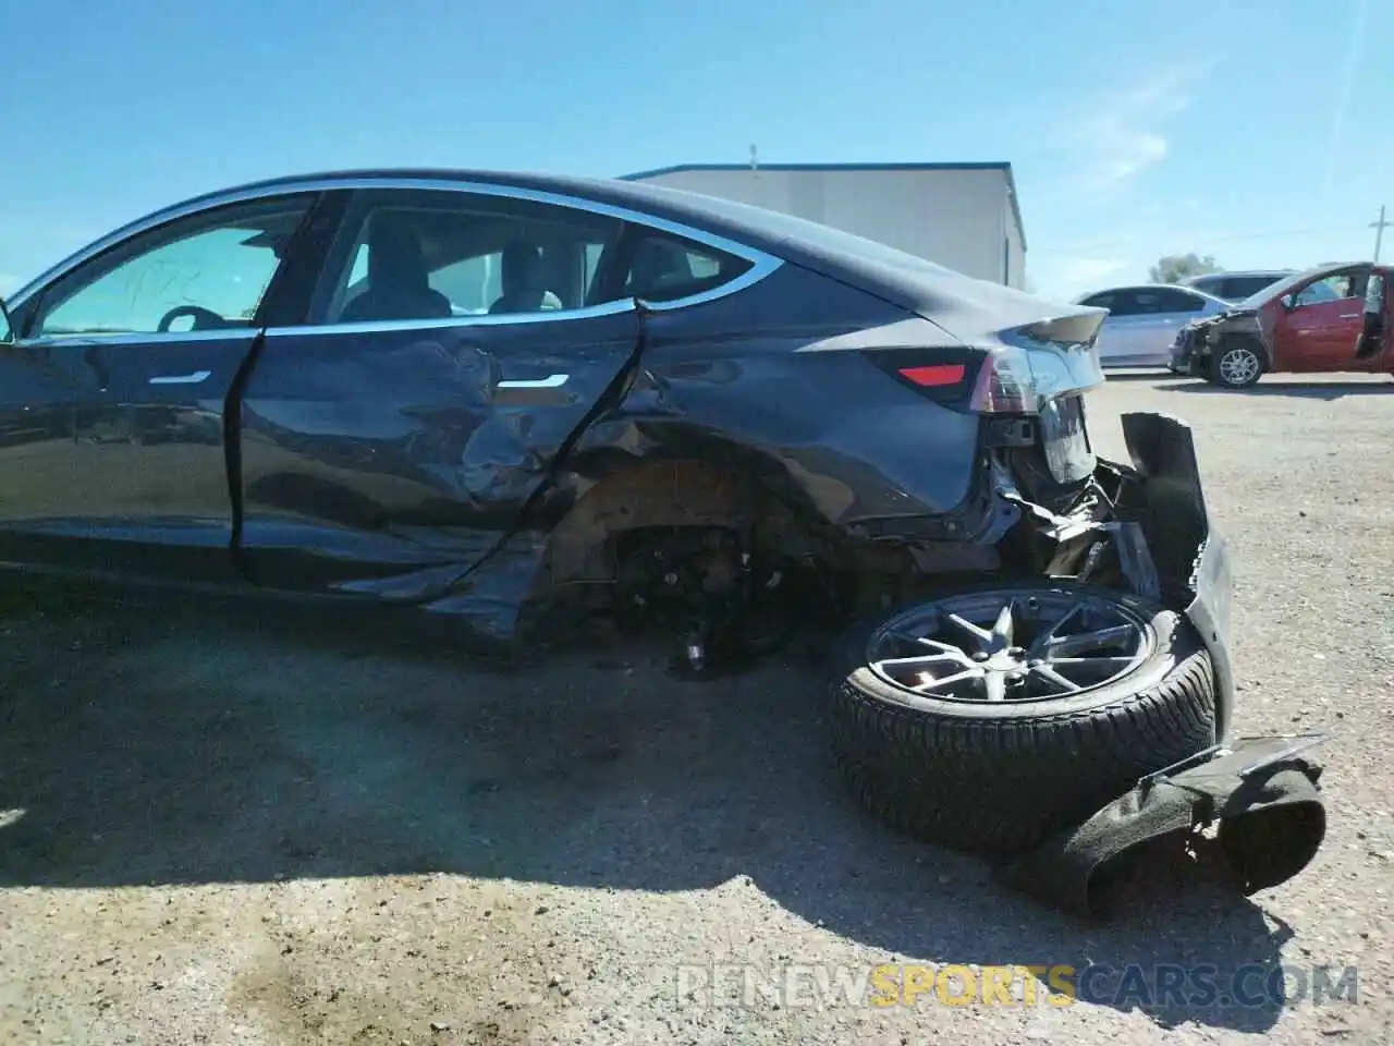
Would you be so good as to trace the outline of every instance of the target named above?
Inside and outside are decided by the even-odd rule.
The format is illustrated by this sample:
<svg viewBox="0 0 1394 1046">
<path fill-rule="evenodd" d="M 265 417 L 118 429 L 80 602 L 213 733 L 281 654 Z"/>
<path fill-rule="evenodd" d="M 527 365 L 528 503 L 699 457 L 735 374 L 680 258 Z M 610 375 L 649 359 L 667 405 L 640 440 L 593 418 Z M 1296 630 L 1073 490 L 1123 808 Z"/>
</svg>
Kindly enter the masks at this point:
<svg viewBox="0 0 1394 1046">
<path fill-rule="evenodd" d="M 224 404 L 315 199 L 156 219 L 25 293 L 0 364 L 7 558 L 231 579 Z"/>
</svg>

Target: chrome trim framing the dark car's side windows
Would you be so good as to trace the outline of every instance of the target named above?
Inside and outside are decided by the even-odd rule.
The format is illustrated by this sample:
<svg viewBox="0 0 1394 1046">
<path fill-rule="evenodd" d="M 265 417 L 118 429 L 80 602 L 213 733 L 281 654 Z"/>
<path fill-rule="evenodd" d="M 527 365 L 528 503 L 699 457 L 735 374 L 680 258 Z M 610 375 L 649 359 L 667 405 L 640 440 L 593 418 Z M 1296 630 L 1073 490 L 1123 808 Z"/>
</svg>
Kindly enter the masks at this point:
<svg viewBox="0 0 1394 1046">
<path fill-rule="evenodd" d="M 615 218 L 622 222 L 629 222 L 633 225 L 640 225 L 647 229 L 654 229 L 657 232 L 669 233 L 672 236 L 679 236 L 693 243 L 705 244 L 725 254 L 743 258 L 751 262 L 751 268 L 743 272 L 733 280 L 722 283 L 719 287 L 712 287 L 700 294 L 690 294 L 684 298 L 676 298 L 673 301 L 655 301 L 645 303 L 647 310 L 652 311 L 669 311 L 676 308 L 687 308 L 691 305 L 703 304 L 705 301 L 712 301 L 715 298 L 725 297 L 726 294 L 735 294 L 739 290 L 744 290 L 753 283 L 760 282 L 775 269 L 782 266 L 785 262 L 782 258 L 776 258 L 772 254 L 765 254 L 754 247 L 747 247 L 736 240 L 729 240 L 723 236 L 717 236 L 715 233 L 708 233 L 703 229 L 696 229 L 682 222 L 671 222 L 665 218 L 658 218 L 657 215 L 650 215 L 643 211 L 634 211 L 633 208 L 616 206 L 613 204 L 602 204 L 595 199 L 587 199 L 585 197 L 574 197 L 565 192 L 548 192 L 545 190 L 533 188 L 519 188 L 516 185 L 499 185 L 489 181 L 468 181 L 468 180 L 454 180 L 454 179 L 413 179 L 413 177 L 364 177 L 364 179 L 311 179 L 307 181 L 290 181 L 279 183 L 276 185 L 259 185 L 255 188 L 245 190 L 230 190 L 226 192 L 219 192 L 213 195 L 199 197 L 192 201 L 185 201 L 183 204 L 176 204 L 173 206 L 164 208 L 163 211 L 156 211 L 145 218 L 137 219 L 135 222 L 128 222 L 120 229 L 107 233 L 99 240 L 92 241 L 86 247 L 78 250 L 75 254 L 68 255 L 57 265 L 49 268 L 47 271 L 39 273 L 35 279 L 24 285 L 13 297 L 7 300 L 11 311 L 22 308 L 35 291 L 47 287 L 56 280 L 63 279 L 70 272 L 77 269 L 79 265 L 91 261 L 96 255 L 116 247 L 117 244 L 130 240 L 131 237 L 148 233 L 158 226 L 166 225 L 167 222 L 177 222 L 181 218 L 190 218 L 192 215 L 201 213 L 204 211 L 212 211 L 220 206 L 229 206 L 231 204 L 247 204 L 256 199 L 273 199 L 276 197 L 290 197 L 304 192 L 335 192 L 335 191 L 371 191 L 371 190 L 422 190 L 432 192 L 461 192 L 482 197 L 503 197 L 509 199 L 521 199 L 533 204 L 549 204 L 553 206 L 572 208 L 574 211 L 587 211 L 594 215 L 601 215 L 605 218 Z M 625 308 L 630 308 L 633 300 L 626 300 Z M 609 303 L 606 303 L 608 305 Z M 616 303 L 620 304 L 620 303 Z M 576 319 L 584 318 L 590 308 L 605 308 L 606 305 L 595 305 L 587 308 L 573 308 L 573 310 L 552 310 L 548 314 L 538 315 L 533 312 L 523 314 L 499 314 L 493 322 L 538 322 L 539 319 Z M 524 319 L 528 317 L 528 319 Z M 362 328 L 368 331 L 385 331 L 396 328 L 410 328 L 421 325 L 432 326 L 453 326 L 459 322 L 474 324 L 485 319 L 485 317 L 452 317 L 442 321 L 385 321 L 381 324 L 336 324 L 336 325 L 315 325 L 315 326 L 297 326 L 297 328 L 277 328 L 277 331 L 300 331 L 300 332 L 321 332 L 321 331 L 340 331 L 346 332 L 348 328 Z M 220 331 L 208 331 L 198 333 L 222 333 Z M 124 335 L 123 335 L 124 336 Z M 151 332 L 144 335 L 144 339 L 151 336 L 159 338 L 158 332 Z M 187 333 L 185 333 L 187 336 Z M 75 335 L 77 338 L 77 335 Z M 107 335 L 81 335 L 84 339 L 100 339 L 103 343 L 107 340 Z M 29 344 L 31 342 L 25 342 Z"/>
</svg>

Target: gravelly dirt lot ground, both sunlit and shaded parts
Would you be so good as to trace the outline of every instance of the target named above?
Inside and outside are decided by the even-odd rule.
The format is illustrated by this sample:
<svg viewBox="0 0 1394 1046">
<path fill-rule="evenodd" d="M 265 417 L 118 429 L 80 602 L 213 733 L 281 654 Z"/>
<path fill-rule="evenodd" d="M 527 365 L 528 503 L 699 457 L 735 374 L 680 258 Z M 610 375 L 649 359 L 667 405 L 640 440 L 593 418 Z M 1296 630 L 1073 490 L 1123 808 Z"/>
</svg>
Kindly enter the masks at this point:
<svg viewBox="0 0 1394 1046">
<path fill-rule="evenodd" d="M 0 1042 L 1394 1040 L 1394 382 L 1154 375 L 1092 407 L 1114 456 L 1119 410 L 1196 427 L 1239 729 L 1333 735 L 1327 841 L 1282 887 L 1158 873 L 1108 925 L 1004 893 L 850 805 L 792 660 L 499 674 L 259 608 L 45 601 L 0 621 Z M 795 994 L 679 1004 L 729 962 Z M 1248 969 L 1259 996 L 1356 967 L 1358 990 L 810 1006 L 839 968 L 1086 962 Z"/>
</svg>

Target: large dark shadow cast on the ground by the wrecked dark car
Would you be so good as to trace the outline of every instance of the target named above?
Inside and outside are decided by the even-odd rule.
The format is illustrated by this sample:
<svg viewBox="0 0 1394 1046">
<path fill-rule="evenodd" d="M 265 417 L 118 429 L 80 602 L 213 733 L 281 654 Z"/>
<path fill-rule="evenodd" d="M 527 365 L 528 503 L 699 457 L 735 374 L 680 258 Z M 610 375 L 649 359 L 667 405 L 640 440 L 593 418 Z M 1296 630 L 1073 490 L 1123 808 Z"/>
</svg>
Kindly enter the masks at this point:
<svg viewBox="0 0 1394 1046">
<path fill-rule="evenodd" d="M 1221 986 L 1280 964 L 1285 930 L 1174 870 L 1121 920 L 1083 925 L 881 830 L 843 796 L 818 676 L 793 662 L 679 682 L 666 651 L 611 646 L 485 674 L 280 611 L 190 621 L 3 623 L 0 884 L 443 872 L 673 891 L 749 874 L 810 923 L 920 961 L 1209 964 Z M 1259 1032 L 1281 1008 L 1139 1007 L 1112 997 L 1117 973 L 1093 987 L 1164 1026 Z"/>
</svg>

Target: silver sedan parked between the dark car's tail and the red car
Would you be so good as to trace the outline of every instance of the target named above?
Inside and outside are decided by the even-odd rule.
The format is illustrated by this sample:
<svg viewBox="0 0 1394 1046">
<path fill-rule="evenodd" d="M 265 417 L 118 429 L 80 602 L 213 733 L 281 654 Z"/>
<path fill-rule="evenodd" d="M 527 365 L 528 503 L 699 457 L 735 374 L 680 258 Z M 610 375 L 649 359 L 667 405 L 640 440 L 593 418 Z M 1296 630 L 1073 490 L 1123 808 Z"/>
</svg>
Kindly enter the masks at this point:
<svg viewBox="0 0 1394 1046">
<path fill-rule="evenodd" d="M 1075 303 L 1108 310 L 1096 343 L 1098 361 L 1108 368 L 1165 367 L 1171 363 L 1177 331 L 1230 307 L 1217 297 L 1171 283 L 1096 290 Z"/>
</svg>

